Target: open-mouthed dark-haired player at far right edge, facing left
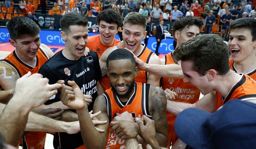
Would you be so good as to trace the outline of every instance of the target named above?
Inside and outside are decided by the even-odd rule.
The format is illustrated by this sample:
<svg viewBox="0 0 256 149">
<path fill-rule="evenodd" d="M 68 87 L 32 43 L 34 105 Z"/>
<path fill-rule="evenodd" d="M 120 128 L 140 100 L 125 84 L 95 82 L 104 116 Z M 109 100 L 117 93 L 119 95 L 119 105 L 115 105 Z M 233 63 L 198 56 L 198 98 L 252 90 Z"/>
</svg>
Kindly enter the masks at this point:
<svg viewBox="0 0 256 149">
<path fill-rule="evenodd" d="M 228 47 L 231 53 L 229 66 L 237 73 L 244 73 L 256 80 L 256 20 L 239 18 L 231 22 Z M 216 108 L 223 102 L 216 102 Z"/>
</svg>

